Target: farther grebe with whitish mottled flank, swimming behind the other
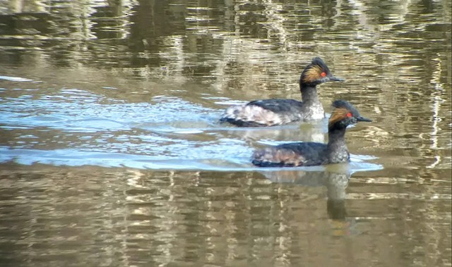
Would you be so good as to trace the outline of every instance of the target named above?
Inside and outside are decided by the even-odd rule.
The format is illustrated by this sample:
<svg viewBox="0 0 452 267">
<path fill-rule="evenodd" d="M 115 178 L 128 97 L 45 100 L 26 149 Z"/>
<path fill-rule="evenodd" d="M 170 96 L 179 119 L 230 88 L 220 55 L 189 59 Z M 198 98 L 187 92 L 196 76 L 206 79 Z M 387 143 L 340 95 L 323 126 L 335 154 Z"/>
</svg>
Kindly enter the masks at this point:
<svg viewBox="0 0 452 267">
<path fill-rule="evenodd" d="M 222 114 L 220 122 L 242 127 L 261 127 L 324 118 L 325 111 L 317 97 L 316 85 L 328 80 L 344 81 L 334 77 L 321 58 L 314 58 L 299 78 L 302 102 L 294 99 L 265 99 L 230 106 Z"/>
</svg>

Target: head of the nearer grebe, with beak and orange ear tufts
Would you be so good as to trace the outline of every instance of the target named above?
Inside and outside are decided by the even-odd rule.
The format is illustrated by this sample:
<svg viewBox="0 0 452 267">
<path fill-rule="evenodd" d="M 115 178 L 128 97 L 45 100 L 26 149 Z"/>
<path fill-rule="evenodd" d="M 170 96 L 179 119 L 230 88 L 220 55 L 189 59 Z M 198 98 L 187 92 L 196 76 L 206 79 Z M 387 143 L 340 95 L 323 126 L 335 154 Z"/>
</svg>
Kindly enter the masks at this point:
<svg viewBox="0 0 452 267">
<path fill-rule="evenodd" d="M 345 100 L 333 101 L 333 112 L 328 120 L 328 128 L 347 128 L 348 125 L 359 121 L 371 122 L 368 118 L 359 115 L 357 109 Z"/>
</svg>

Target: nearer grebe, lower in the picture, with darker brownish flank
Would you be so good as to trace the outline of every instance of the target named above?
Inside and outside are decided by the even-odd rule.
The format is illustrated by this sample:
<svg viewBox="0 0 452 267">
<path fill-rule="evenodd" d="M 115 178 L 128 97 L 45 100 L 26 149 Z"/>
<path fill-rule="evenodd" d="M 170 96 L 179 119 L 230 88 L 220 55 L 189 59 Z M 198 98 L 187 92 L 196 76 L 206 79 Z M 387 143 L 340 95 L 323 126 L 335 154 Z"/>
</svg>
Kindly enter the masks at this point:
<svg viewBox="0 0 452 267">
<path fill-rule="evenodd" d="M 333 112 L 328 120 L 328 144 L 297 142 L 260 149 L 253 154 L 252 163 L 260 167 L 314 166 L 350 161 L 345 144 L 345 129 L 363 118 L 350 103 L 333 102 Z"/>
</svg>

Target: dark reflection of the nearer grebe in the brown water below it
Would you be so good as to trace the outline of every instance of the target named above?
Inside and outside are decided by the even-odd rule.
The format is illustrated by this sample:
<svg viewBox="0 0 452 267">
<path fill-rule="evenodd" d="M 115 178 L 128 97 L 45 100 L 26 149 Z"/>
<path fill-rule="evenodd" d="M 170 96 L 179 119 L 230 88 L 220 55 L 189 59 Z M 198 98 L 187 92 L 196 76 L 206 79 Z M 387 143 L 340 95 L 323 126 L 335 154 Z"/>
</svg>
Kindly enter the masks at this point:
<svg viewBox="0 0 452 267">
<path fill-rule="evenodd" d="M 270 181 L 291 183 L 304 187 L 326 187 L 326 211 L 333 235 L 350 235 L 355 218 L 347 216 L 346 189 L 352 172 L 347 163 L 307 168 L 309 170 L 279 169 L 261 171 Z"/>
</svg>

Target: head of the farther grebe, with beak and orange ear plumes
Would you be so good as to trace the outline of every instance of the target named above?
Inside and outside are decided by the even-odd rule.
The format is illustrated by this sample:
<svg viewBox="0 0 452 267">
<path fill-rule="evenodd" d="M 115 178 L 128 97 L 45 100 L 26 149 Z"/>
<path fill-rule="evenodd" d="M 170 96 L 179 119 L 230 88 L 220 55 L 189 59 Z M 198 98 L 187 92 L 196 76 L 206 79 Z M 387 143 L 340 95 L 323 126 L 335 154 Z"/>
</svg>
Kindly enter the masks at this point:
<svg viewBox="0 0 452 267">
<path fill-rule="evenodd" d="M 299 83 L 300 85 L 316 86 L 329 80 L 344 81 L 344 79 L 334 77 L 321 58 L 313 58 L 312 62 L 304 68 Z"/>
</svg>

